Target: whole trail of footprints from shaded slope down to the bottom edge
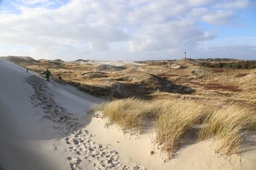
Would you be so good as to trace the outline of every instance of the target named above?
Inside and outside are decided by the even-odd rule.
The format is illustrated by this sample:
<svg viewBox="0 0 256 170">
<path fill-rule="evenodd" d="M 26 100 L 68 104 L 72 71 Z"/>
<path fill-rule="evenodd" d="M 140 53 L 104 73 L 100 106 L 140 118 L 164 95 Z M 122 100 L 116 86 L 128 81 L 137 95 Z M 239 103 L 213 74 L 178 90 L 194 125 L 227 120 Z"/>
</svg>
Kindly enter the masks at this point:
<svg viewBox="0 0 256 170">
<path fill-rule="evenodd" d="M 92 169 L 86 164 L 92 164 L 94 169 L 129 169 L 143 170 L 145 167 L 136 165 L 125 166 L 120 163 L 118 152 L 109 149 L 109 145 L 95 143 L 93 134 L 90 134 L 79 124 L 77 118 L 67 109 L 55 103 L 51 89 L 47 87 L 46 81 L 38 76 L 32 75 L 26 78 L 32 85 L 35 94 L 31 96 L 31 103 L 44 110 L 44 118 L 56 122 L 54 129 L 60 129 L 64 134 L 70 134 L 65 141 L 69 146 L 70 157 L 67 157 L 70 170 Z M 55 150 L 57 150 L 56 146 Z"/>
</svg>

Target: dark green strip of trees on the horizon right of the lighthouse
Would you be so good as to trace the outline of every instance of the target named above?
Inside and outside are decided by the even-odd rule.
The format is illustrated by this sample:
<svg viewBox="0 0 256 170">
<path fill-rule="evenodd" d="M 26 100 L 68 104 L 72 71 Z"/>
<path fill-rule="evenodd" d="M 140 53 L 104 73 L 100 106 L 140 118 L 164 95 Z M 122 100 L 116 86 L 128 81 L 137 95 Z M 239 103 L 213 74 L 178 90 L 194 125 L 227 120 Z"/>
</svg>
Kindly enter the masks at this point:
<svg viewBox="0 0 256 170">
<path fill-rule="evenodd" d="M 228 68 L 228 69 L 255 69 L 256 61 L 239 61 L 239 62 L 202 62 L 201 66 L 211 68 Z"/>
</svg>

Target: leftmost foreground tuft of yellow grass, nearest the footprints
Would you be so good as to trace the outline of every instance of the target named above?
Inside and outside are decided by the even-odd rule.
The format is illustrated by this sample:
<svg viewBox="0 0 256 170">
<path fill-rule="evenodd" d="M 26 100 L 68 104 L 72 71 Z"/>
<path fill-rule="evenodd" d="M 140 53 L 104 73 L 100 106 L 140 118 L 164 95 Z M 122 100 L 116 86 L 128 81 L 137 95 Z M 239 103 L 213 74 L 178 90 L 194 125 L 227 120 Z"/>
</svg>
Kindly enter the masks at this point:
<svg viewBox="0 0 256 170">
<path fill-rule="evenodd" d="M 142 128 L 143 120 L 156 120 L 160 111 L 159 104 L 135 98 L 110 101 L 96 106 L 96 110 L 99 108 L 103 117 L 108 117 L 110 123 L 116 123 L 124 130 L 138 131 Z"/>
</svg>

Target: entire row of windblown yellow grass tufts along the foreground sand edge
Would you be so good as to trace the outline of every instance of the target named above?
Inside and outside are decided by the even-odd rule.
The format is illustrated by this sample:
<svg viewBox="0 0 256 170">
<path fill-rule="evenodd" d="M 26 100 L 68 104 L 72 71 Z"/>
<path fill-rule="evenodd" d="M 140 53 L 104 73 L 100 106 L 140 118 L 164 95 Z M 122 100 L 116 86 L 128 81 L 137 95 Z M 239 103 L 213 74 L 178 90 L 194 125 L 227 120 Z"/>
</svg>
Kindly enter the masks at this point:
<svg viewBox="0 0 256 170">
<path fill-rule="evenodd" d="M 239 153 L 244 135 L 256 127 L 256 113 L 252 106 L 213 106 L 191 99 L 153 102 L 119 99 L 93 106 L 91 111 L 102 111 L 103 117 L 108 118 L 111 124 L 120 125 L 124 131 L 142 131 L 145 122 L 153 121 L 156 142 L 170 157 L 193 132 L 198 141 L 216 139 L 218 153 Z M 200 127 L 197 131 L 195 125 Z"/>
</svg>

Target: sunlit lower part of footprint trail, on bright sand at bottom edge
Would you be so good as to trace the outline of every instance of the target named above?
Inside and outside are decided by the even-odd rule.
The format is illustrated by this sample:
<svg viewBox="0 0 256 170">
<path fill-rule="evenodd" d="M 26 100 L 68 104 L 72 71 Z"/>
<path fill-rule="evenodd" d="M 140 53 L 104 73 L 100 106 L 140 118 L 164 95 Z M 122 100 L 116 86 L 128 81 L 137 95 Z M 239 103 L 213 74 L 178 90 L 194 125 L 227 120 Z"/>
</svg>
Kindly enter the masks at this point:
<svg viewBox="0 0 256 170">
<path fill-rule="evenodd" d="M 70 145 L 70 152 L 73 151 L 75 153 L 73 157 L 67 158 L 70 161 L 71 169 L 82 169 L 80 163 L 83 160 L 88 160 L 95 169 L 145 169 L 140 165 L 130 167 L 122 164 L 119 160 L 118 152 L 109 149 L 109 145 L 95 143 L 93 134 L 90 134 L 88 130 L 81 129 L 72 132 L 65 140 Z"/>
</svg>

